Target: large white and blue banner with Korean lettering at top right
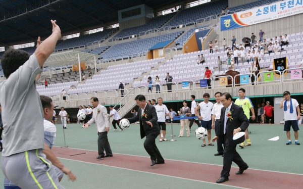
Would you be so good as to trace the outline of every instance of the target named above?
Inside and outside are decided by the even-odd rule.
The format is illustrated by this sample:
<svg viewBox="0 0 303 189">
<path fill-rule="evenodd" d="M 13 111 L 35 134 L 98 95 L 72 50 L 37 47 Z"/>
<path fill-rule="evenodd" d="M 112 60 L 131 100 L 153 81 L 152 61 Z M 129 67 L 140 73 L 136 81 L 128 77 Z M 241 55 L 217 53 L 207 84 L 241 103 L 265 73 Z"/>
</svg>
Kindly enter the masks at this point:
<svg viewBox="0 0 303 189">
<path fill-rule="evenodd" d="M 220 17 L 221 31 L 268 22 L 300 13 L 303 13 L 302 0 L 275 2 Z"/>
</svg>

